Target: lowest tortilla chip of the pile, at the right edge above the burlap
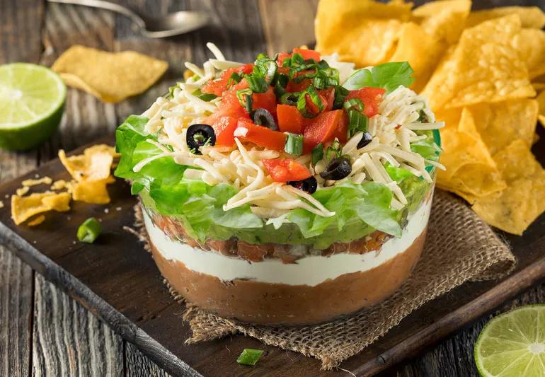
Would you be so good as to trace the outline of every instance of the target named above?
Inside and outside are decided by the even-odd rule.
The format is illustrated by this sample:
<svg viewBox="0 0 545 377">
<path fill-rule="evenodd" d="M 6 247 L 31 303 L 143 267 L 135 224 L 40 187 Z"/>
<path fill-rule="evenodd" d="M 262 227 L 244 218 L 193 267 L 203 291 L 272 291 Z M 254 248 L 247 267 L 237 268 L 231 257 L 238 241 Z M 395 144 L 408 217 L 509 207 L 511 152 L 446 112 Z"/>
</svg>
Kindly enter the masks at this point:
<svg viewBox="0 0 545 377">
<path fill-rule="evenodd" d="M 513 141 L 494 160 L 508 187 L 478 198 L 472 208 L 488 224 L 521 235 L 545 211 L 545 170 L 522 140 Z"/>
</svg>

